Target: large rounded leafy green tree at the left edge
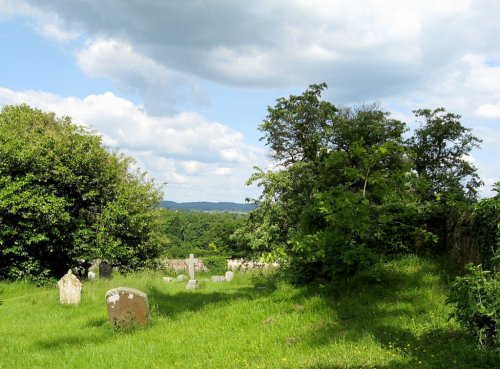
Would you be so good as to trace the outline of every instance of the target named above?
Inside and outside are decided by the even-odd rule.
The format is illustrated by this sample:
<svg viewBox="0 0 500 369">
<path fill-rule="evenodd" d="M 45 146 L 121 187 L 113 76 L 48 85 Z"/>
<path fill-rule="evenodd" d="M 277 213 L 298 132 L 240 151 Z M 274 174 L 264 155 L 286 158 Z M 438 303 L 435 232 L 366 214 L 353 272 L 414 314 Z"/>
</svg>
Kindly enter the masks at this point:
<svg viewBox="0 0 500 369">
<path fill-rule="evenodd" d="M 0 277 L 60 276 L 101 258 L 134 268 L 161 242 L 161 192 L 69 117 L 0 113 Z"/>
</svg>

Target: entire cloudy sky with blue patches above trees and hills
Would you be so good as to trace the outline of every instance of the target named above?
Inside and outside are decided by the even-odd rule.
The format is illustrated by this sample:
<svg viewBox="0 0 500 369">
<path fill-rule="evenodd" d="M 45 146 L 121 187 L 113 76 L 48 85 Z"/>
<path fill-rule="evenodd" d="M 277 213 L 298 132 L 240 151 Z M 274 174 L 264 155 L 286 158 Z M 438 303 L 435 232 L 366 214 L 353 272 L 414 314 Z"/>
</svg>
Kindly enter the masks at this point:
<svg viewBox="0 0 500 369">
<path fill-rule="evenodd" d="M 258 126 L 276 99 L 326 82 L 412 129 L 444 107 L 500 181 L 497 0 L 0 0 L 0 107 L 70 116 L 173 201 L 244 202 L 269 168 Z"/>
</svg>

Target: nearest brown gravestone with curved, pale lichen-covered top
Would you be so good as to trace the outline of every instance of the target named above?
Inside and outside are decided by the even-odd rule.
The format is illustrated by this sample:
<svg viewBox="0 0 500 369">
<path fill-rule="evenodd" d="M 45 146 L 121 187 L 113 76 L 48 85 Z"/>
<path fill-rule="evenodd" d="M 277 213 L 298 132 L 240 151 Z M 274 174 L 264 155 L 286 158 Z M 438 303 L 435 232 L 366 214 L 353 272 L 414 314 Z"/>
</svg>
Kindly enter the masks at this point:
<svg viewBox="0 0 500 369">
<path fill-rule="evenodd" d="M 147 325 L 149 322 L 148 296 L 127 287 L 113 288 L 106 292 L 109 321 L 121 328 Z"/>
</svg>

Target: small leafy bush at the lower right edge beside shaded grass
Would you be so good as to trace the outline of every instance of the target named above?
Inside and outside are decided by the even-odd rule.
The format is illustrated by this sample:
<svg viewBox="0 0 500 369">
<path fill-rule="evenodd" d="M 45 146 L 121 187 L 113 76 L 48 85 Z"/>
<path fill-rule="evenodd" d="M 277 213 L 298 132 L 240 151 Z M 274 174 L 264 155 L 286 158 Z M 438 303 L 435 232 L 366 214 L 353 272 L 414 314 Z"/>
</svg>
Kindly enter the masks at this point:
<svg viewBox="0 0 500 369">
<path fill-rule="evenodd" d="M 498 255 L 496 258 L 498 264 Z M 450 288 L 447 303 L 451 317 L 466 327 L 481 346 L 500 349 L 500 276 L 495 268 L 467 266 L 467 274 L 457 277 Z"/>
</svg>

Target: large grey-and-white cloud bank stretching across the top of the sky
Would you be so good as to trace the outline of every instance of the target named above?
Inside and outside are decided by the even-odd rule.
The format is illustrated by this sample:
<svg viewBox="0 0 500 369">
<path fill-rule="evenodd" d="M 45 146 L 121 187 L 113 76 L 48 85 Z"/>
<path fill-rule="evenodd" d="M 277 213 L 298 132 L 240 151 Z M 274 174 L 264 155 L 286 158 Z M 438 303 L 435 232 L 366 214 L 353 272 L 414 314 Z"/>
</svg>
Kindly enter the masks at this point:
<svg viewBox="0 0 500 369">
<path fill-rule="evenodd" d="M 186 76 L 246 87 L 327 81 L 344 101 L 380 99 L 429 83 L 466 52 L 491 51 L 483 38 L 500 28 L 498 22 L 477 27 L 486 14 L 500 16 L 492 0 L 29 3 L 99 39 L 80 53 L 82 68 L 136 86 L 146 107 L 161 100 L 154 101 L 153 91 L 166 85 L 180 85 L 184 97 L 192 96 Z M 101 63 L 113 47 L 122 57 L 113 58 L 116 70 Z M 99 48 L 103 54 L 97 55 Z M 163 83 L 144 69 L 124 70 L 127 64 L 151 66 Z M 165 82 L 172 78 L 183 83 Z"/>
</svg>

